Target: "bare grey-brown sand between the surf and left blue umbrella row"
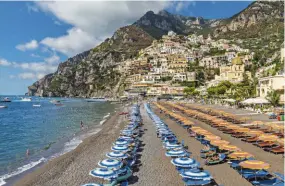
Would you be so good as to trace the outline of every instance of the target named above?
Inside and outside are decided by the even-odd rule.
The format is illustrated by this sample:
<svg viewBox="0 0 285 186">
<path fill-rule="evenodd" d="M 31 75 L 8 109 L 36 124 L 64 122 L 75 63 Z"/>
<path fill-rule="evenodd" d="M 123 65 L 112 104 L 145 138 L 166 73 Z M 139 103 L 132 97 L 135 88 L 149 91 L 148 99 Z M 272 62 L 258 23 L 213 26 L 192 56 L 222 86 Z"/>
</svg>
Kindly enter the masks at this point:
<svg viewBox="0 0 285 186">
<path fill-rule="evenodd" d="M 111 116 L 97 134 L 86 138 L 76 149 L 27 174 L 16 186 L 67 186 L 82 185 L 100 180 L 89 176 L 89 171 L 98 167 L 111 151 L 112 143 L 127 121 L 119 112 Z"/>
</svg>

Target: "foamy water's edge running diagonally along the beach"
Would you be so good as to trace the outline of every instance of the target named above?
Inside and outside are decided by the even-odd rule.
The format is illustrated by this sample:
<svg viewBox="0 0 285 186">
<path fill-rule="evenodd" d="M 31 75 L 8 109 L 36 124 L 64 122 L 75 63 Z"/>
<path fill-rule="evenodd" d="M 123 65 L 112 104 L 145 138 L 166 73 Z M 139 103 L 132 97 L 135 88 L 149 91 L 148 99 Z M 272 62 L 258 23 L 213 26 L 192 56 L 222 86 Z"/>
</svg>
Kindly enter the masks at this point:
<svg viewBox="0 0 285 186">
<path fill-rule="evenodd" d="M 63 141 L 58 141 L 55 145 L 56 147 L 51 147 L 47 151 L 43 152 L 49 153 L 50 156 L 44 158 L 37 157 L 37 160 L 30 160 L 27 164 L 21 165 L 17 170 L 4 174 L 2 176 L 9 176 L 8 178 L 3 178 L 0 180 L 0 185 L 10 186 L 10 185 L 23 185 L 21 180 L 28 181 L 29 178 L 34 178 L 34 174 L 41 172 L 39 170 L 46 169 L 48 164 L 51 162 L 59 161 L 63 159 L 62 157 L 70 156 L 70 154 L 75 151 L 82 144 L 86 144 L 86 141 L 89 141 L 90 138 L 94 138 L 102 132 L 105 127 L 110 123 L 110 120 L 114 118 L 120 110 L 124 109 L 123 105 L 118 106 L 112 112 L 106 113 L 99 122 L 94 123 L 91 127 L 89 126 L 87 130 L 79 131 L 73 136 L 65 138 Z M 52 151 L 53 150 L 53 151 Z M 56 151 L 59 150 L 59 151 Z M 21 184 L 19 184 L 21 182 Z M 26 184 L 31 185 L 31 184 Z"/>
</svg>

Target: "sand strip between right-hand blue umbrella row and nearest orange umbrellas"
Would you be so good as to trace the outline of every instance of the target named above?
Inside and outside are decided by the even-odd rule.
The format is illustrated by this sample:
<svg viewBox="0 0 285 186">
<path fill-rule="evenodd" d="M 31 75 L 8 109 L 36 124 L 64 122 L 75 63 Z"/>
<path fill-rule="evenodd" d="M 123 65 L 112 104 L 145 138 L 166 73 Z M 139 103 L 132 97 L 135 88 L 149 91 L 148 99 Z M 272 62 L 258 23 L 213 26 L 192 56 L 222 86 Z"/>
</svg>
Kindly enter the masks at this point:
<svg viewBox="0 0 285 186">
<path fill-rule="evenodd" d="M 250 186 L 251 184 L 241 177 L 234 169 L 230 168 L 230 165 L 227 163 L 214 165 L 214 166 L 205 166 L 204 159 L 200 158 L 200 150 L 203 148 L 203 145 L 194 138 L 189 137 L 188 132 L 178 125 L 175 121 L 169 119 L 164 114 L 161 114 L 159 110 L 152 106 L 153 111 L 157 114 L 167 125 L 168 127 L 175 133 L 179 141 L 184 140 L 186 146 L 190 152 L 192 152 L 191 157 L 196 159 L 201 163 L 201 166 L 210 171 L 214 180 L 219 185 L 224 186 Z"/>
</svg>

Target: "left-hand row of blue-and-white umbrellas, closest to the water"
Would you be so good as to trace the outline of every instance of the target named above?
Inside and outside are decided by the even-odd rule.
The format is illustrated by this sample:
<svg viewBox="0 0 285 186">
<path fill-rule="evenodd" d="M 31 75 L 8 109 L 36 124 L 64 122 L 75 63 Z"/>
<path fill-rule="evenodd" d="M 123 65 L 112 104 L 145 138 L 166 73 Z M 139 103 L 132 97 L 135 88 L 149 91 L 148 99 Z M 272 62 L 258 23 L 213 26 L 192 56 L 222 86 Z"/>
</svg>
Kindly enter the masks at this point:
<svg viewBox="0 0 285 186">
<path fill-rule="evenodd" d="M 136 165 L 137 150 L 140 148 L 139 138 L 142 130 L 140 108 L 133 105 L 129 114 L 129 124 L 120 131 L 120 136 L 113 143 L 107 159 L 98 162 L 100 168 L 90 171 L 89 175 L 102 179 L 105 184 L 88 183 L 84 186 L 127 186 L 132 176 L 132 168 Z"/>
</svg>

